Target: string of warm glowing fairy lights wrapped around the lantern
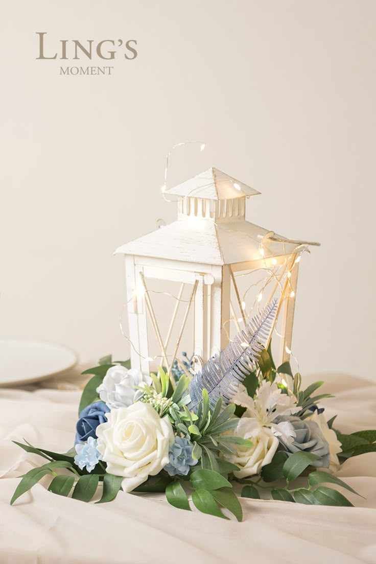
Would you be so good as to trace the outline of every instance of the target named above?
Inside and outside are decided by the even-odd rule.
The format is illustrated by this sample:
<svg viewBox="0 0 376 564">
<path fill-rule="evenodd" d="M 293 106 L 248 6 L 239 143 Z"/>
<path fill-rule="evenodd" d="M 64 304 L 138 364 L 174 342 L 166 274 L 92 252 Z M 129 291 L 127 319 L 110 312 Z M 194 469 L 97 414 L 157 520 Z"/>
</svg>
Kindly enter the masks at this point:
<svg viewBox="0 0 376 564">
<path fill-rule="evenodd" d="M 200 184 L 200 187 L 193 188 L 187 195 L 179 196 L 179 198 L 177 200 L 176 199 L 171 200 L 171 199 L 169 199 L 169 197 L 167 197 L 169 195 L 168 180 L 169 180 L 170 157 L 171 157 L 172 153 L 175 151 L 176 148 L 184 147 L 184 146 L 187 146 L 187 145 L 198 145 L 198 146 L 200 146 L 200 151 L 204 151 L 204 149 L 206 147 L 206 144 L 202 141 L 181 142 L 181 143 L 176 143 L 170 149 L 170 151 L 167 153 L 167 155 L 166 155 L 166 165 L 165 165 L 165 175 L 164 175 L 165 182 L 163 183 L 163 185 L 161 187 L 162 196 L 163 196 L 163 199 L 166 202 L 171 203 L 171 202 L 176 202 L 179 199 L 187 199 L 188 197 L 194 196 L 194 192 L 196 190 L 202 190 L 202 188 L 210 187 L 213 184 L 213 182 L 210 182 L 208 184 Z M 218 180 L 217 182 L 220 182 L 220 180 Z M 226 182 L 228 182 L 228 180 L 226 180 Z M 236 190 L 239 190 L 239 191 L 241 190 L 241 187 L 237 182 L 232 182 L 232 184 L 233 184 L 233 187 L 236 188 Z M 219 230 L 224 229 L 224 227 L 221 224 L 215 222 L 214 219 L 211 219 L 211 221 L 213 221 L 213 223 L 215 224 L 215 227 L 217 229 L 219 229 Z M 165 226 L 165 222 L 163 221 L 163 219 L 158 219 L 157 222 L 156 222 L 156 227 L 157 228 L 163 228 L 163 226 Z M 231 229 L 231 230 L 226 229 L 225 231 L 239 232 L 239 231 L 234 230 L 234 229 Z M 304 252 L 309 252 L 308 244 L 302 244 L 299 241 L 293 241 L 293 240 L 287 240 L 287 241 L 281 240 L 280 242 L 283 244 L 283 247 L 282 247 L 283 253 L 282 254 L 284 255 L 284 261 L 280 264 L 277 264 L 277 259 L 274 258 L 274 257 L 272 257 L 272 258 L 267 257 L 267 252 L 266 252 L 267 241 L 270 240 L 270 237 L 273 237 L 275 235 L 275 233 L 273 231 L 267 232 L 262 237 L 261 241 L 259 241 L 259 239 L 256 239 L 255 237 L 251 236 L 249 233 L 245 233 L 244 231 L 241 231 L 241 233 L 242 233 L 243 236 L 249 237 L 249 239 L 251 239 L 252 241 L 254 241 L 255 243 L 258 244 L 258 253 L 259 253 L 260 259 L 263 260 L 263 262 L 264 262 L 264 266 L 259 267 L 259 268 L 255 268 L 253 270 L 249 269 L 248 271 L 237 272 L 236 274 L 234 274 L 231 271 L 232 276 L 233 276 L 233 283 L 235 285 L 236 292 L 238 290 L 237 290 L 237 284 L 236 284 L 235 279 L 237 279 L 238 277 L 240 278 L 240 277 L 243 277 L 243 276 L 254 275 L 256 272 L 265 272 L 266 276 L 263 277 L 262 279 L 257 280 L 256 282 L 249 284 L 247 286 L 247 288 L 244 290 L 244 292 L 242 292 L 242 295 L 238 296 L 238 299 L 239 299 L 238 305 L 240 306 L 240 312 L 241 312 L 240 317 L 236 316 L 236 312 L 234 311 L 232 304 L 231 304 L 231 314 L 232 315 L 229 317 L 229 319 L 224 320 L 223 323 L 222 323 L 222 329 L 225 331 L 229 341 L 231 341 L 231 337 L 230 337 L 230 331 L 229 331 L 228 328 L 230 327 L 231 323 L 232 322 L 235 323 L 237 329 L 240 330 L 240 323 L 244 322 L 244 324 L 246 324 L 247 320 L 249 320 L 250 317 L 255 314 L 255 311 L 256 312 L 260 311 L 260 309 L 263 307 L 261 302 L 263 301 L 263 298 L 264 298 L 264 295 L 266 294 L 268 286 L 269 286 L 269 284 L 272 283 L 272 281 L 275 282 L 275 287 L 273 289 L 272 295 L 269 297 L 269 301 L 275 295 L 277 289 L 279 289 L 280 290 L 280 298 L 279 298 L 279 304 L 278 304 L 278 314 L 281 310 L 281 307 L 284 306 L 285 301 L 287 299 L 293 299 L 295 297 L 295 290 L 291 287 L 291 282 L 290 282 L 291 272 L 293 271 L 293 268 L 299 263 L 302 254 Z M 285 246 L 286 242 L 290 243 L 290 244 L 296 243 L 295 248 L 292 251 L 290 250 L 288 253 L 286 253 L 286 246 Z M 292 262 L 291 262 L 291 257 L 293 257 Z M 289 261 L 290 261 L 290 263 L 289 263 Z M 249 307 L 247 307 L 246 306 L 247 294 L 249 294 L 251 289 L 258 287 L 259 285 L 260 285 L 260 288 L 258 289 L 253 302 L 250 304 Z M 166 362 L 169 362 L 168 359 L 171 358 L 171 355 L 167 354 L 165 343 L 163 343 L 163 340 L 161 340 L 161 337 L 159 337 L 160 345 L 162 345 L 162 350 L 161 350 L 160 355 L 145 356 L 145 355 L 140 353 L 138 348 L 135 346 L 134 342 L 132 342 L 129 335 L 126 334 L 124 327 L 123 327 L 123 317 L 125 316 L 125 313 L 126 313 L 128 307 L 129 307 L 130 302 L 132 300 L 134 300 L 135 298 L 148 298 L 148 304 L 149 304 L 150 307 L 152 307 L 151 303 L 150 303 L 149 294 L 151 294 L 151 293 L 163 294 L 163 295 L 171 297 L 172 299 L 175 300 L 175 302 L 176 302 L 175 303 L 175 315 L 176 315 L 176 312 L 178 310 L 179 304 L 183 303 L 183 302 L 188 303 L 188 309 L 187 309 L 187 312 L 188 312 L 189 307 L 191 306 L 192 302 L 194 301 L 195 289 L 191 293 L 191 297 L 189 299 L 184 299 L 183 295 L 182 295 L 183 294 L 183 287 L 184 287 L 184 284 L 182 285 L 182 288 L 180 289 L 178 296 L 176 296 L 175 294 L 172 294 L 170 292 L 163 292 L 163 291 L 148 289 L 144 285 L 143 288 L 138 289 L 138 290 L 134 290 L 131 293 L 131 297 L 122 306 L 122 309 L 121 309 L 121 312 L 120 312 L 120 315 L 119 315 L 119 325 L 120 325 L 120 330 L 121 330 L 122 336 L 129 343 L 132 350 L 134 350 L 135 354 L 138 355 L 142 360 L 145 360 L 147 362 L 155 362 L 157 360 L 158 361 L 165 360 Z M 147 294 L 147 296 L 146 296 L 146 294 Z M 230 294 L 231 294 L 231 292 L 230 292 Z M 151 311 L 149 310 L 149 314 L 150 313 L 151 313 Z M 152 318 L 154 317 L 154 320 L 152 319 L 152 321 L 154 321 L 154 323 L 155 323 L 155 316 L 154 316 L 153 311 L 152 311 L 152 314 L 153 314 Z M 277 314 L 277 318 L 278 318 L 278 314 Z M 272 334 L 274 334 L 278 338 L 282 339 L 284 337 L 278 331 L 277 321 L 278 321 L 278 319 L 276 319 L 276 322 L 275 322 L 275 324 L 272 328 Z M 171 323 L 171 325 L 172 325 L 172 323 Z M 172 330 L 171 325 L 170 325 L 170 329 L 169 329 L 169 334 L 167 335 L 167 338 L 166 338 L 167 344 L 168 344 L 169 339 L 171 337 L 171 330 Z M 155 326 L 154 326 L 154 329 L 156 329 L 156 332 L 157 332 L 157 328 Z M 181 335 L 180 335 L 180 337 L 181 337 Z M 180 338 L 179 338 L 179 342 L 180 342 Z M 247 343 L 244 343 L 244 346 L 248 346 Z M 286 344 L 285 344 L 285 351 L 286 351 L 287 355 L 289 355 L 290 358 L 294 360 L 294 363 L 297 365 L 297 368 L 298 368 L 298 371 L 299 371 L 298 360 L 293 355 L 293 352 L 291 352 L 290 348 Z M 180 358 L 178 358 L 178 356 L 176 354 L 173 356 L 172 360 L 170 361 L 169 371 L 171 371 L 172 363 L 174 362 L 174 360 L 176 360 L 179 367 L 182 368 L 185 373 L 187 373 L 187 369 L 185 368 L 184 364 L 182 363 L 182 360 Z M 191 374 L 189 374 L 189 375 L 191 375 Z M 285 384 L 285 382 L 284 382 L 284 384 Z"/>
</svg>

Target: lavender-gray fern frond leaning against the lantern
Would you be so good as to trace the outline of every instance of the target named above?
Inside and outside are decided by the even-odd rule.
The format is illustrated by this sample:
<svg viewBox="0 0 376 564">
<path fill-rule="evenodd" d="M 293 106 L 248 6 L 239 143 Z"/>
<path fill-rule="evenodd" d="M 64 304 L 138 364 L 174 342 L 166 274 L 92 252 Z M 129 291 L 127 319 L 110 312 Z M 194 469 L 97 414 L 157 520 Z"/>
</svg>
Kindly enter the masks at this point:
<svg viewBox="0 0 376 564">
<path fill-rule="evenodd" d="M 219 355 L 210 358 L 197 372 L 188 389 L 191 397 L 188 409 L 196 412 L 204 388 L 209 394 L 211 409 L 219 398 L 222 398 L 224 406 L 231 402 L 238 385 L 255 369 L 260 352 L 268 341 L 277 309 L 278 301 L 274 299 L 249 321 L 246 328 Z"/>
</svg>

